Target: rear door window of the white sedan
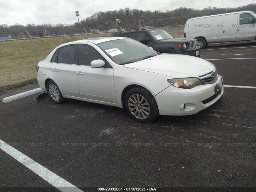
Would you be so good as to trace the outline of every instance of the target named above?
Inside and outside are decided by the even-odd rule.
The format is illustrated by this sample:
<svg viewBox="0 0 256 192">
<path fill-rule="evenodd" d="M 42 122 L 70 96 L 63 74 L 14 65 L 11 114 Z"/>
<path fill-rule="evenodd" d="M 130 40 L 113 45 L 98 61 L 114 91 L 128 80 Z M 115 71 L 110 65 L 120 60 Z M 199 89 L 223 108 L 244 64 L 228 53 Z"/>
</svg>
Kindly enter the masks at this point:
<svg viewBox="0 0 256 192">
<path fill-rule="evenodd" d="M 74 64 L 75 46 L 66 46 L 60 48 L 57 63 Z"/>
</svg>

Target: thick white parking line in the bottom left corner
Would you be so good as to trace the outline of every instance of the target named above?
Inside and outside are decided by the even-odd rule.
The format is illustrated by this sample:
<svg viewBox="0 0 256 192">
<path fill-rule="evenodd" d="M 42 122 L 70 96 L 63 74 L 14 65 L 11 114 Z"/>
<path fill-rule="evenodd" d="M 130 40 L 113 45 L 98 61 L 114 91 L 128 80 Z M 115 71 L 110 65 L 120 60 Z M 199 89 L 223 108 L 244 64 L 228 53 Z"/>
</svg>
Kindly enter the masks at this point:
<svg viewBox="0 0 256 192">
<path fill-rule="evenodd" d="M 38 164 L 37 162 L 24 155 L 23 153 L 19 152 L 2 140 L 0 140 L 0 149 L 2 149 L 4 152 L 16 159 L 18 162 L 22 163 L 24 166 L 32 170 L 34 173 L 38 174 L 40 177 L 52 184 L 54 187 L 58 188 L 60 191 L 82 192 L 82 190 L 80 190 L 76 186 L 70 184 L 66 180 L 54 174 L 50 170 L 46 169 L 44 166 Z"/>
</svg>

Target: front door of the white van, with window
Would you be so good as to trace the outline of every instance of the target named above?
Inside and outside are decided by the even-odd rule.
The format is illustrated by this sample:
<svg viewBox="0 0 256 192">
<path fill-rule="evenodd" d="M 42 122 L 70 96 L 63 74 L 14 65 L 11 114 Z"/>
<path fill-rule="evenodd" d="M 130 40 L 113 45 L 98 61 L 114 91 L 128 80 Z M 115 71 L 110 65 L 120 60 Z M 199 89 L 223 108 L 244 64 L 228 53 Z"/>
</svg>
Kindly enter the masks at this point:
<svg viewBox="0 0 256 192">
<path fill-rule="evenodd" d="M 254 40 L 256 34 L 256 18 L 250 13 L 238 14 L 236 40 Z"/>
</svg>

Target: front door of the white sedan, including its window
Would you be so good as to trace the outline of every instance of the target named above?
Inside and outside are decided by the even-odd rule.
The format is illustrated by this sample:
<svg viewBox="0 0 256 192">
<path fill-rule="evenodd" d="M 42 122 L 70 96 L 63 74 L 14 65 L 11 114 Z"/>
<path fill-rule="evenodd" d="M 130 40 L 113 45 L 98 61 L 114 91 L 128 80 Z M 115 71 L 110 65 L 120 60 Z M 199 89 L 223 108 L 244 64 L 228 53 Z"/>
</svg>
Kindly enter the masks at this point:
<svg viewBox="0 0 256 192">
<path fill-rule="evenodd" d="M 93 60 L 101 59 L 105 67 L 92 68 Z M 78 45 L 76 79 L 82 98 L 116 104 L 114 70 L 97 50 L 87 45 Z"/>
</svg>

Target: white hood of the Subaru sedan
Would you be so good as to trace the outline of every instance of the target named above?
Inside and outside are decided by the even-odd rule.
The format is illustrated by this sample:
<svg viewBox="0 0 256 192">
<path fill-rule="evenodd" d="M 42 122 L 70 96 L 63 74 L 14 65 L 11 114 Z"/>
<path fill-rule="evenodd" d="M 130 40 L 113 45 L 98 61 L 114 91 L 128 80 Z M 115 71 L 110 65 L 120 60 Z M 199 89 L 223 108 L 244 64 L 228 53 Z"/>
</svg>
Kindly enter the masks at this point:
<svg viewBox="0 0 256 192">
<path fill-rule="evenodd" d="M 124 66 L 172 78 L 199 77 L 215 70 L 214 64 L 206 60 L 178 54 L 160 54 Z"/>
</svg>

